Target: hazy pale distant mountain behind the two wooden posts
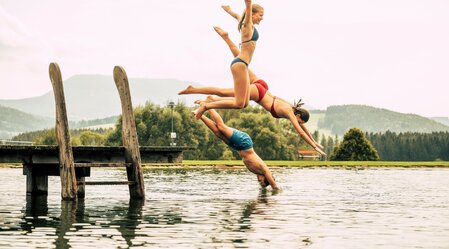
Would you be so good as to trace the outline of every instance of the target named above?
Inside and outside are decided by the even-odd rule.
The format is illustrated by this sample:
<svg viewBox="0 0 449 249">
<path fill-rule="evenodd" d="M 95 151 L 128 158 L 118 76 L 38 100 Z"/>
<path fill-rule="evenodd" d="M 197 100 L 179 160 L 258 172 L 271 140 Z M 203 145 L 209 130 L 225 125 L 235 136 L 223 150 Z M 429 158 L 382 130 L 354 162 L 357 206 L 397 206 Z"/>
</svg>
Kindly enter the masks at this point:
<svg viewBox="0 0 449 249">
<path fill-rule="evenodd" d="M 50 84 L 50 80 L 48 84 Z M 165 105 L 169 100 L 193 104 L 199 95 L 177 95 L 189 84 L 201 86 L 174 79 L 129 79 L 133 106 L 144 105 L 147 101 Z M 76 75 L 70 77 L 64 80 L 64 94 L 69 121 L 121 114 L 120 98 L 112 76 Z M 40 116 L 53 118 L 55 116 L 52 91 L 34 98 L 0 100 L 0 105 Z"/>
</svg>

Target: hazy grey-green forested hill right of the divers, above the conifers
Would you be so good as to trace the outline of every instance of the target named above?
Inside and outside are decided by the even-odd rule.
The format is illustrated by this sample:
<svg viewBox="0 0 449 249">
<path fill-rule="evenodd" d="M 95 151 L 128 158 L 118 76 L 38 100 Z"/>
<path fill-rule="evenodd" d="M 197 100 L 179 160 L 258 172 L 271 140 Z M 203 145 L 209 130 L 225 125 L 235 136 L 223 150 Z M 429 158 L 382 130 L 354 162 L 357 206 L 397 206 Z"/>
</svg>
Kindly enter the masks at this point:
<svg viewBox="0 0 449 249">
<path fill-rule="evenodd" d="M 343 135 L 357 127 L 365 132 L 423 132 L 449 131 L 449 126 L 416 114 L 404 114 L 365 105 L 330 106 L 318 121 L 319 129 Z"/>
</svg>

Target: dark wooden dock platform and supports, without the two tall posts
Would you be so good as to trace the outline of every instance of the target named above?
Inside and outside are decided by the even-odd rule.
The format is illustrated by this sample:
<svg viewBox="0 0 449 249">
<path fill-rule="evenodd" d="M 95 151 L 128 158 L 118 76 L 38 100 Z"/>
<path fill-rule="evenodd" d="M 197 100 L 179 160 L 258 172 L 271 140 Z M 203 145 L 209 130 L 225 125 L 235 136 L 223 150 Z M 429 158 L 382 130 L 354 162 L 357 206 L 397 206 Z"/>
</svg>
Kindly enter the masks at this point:
<svg viewBox="0 0 449 249">
<path fill-rule="evenodd" d="M 183 152 L 192 150 L 186 146 L 143 146 L 139 147 L 142 163 L 182 163 Z M 91 176 L 91 168 L 129 168 L 132 163 L 125 160 L 123 146 L 74 146 L 73 162 L 77 186 L 132 184 L 131 181 L 92 182 L 84 180 Z M 47 195 L 48 176 L 60 176 L 58 146 L 0 145 L 0 163 L 21 163 L 27 176 L 28 195 Z M 82 178 L 84 178 L 82 180 Z M 61 178 L 62 179 L 62 178 Z M 77 196 L 85 195 L 84 189 L 77 189 Z"/>
</svg>

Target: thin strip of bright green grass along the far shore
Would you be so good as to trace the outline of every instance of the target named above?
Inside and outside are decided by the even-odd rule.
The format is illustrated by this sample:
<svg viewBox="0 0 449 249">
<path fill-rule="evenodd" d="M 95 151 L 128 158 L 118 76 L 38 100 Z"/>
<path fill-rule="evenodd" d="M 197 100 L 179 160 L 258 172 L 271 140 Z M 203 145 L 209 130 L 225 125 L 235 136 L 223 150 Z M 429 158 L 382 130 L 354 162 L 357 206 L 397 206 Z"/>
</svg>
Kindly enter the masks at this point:
<svg viewBox="0 0 449 249">
<path fill-rule="evenodd" d="M 449 161 L 433 162 L 393 162 L 393 161 L 265 161 L 271 167 L 428 167 L 428 168 L 449 168 Z M 184 160 L 180 164 L 171 163 L 149 163 L 144 167 L 240 167 L 243 166 L 241 160 Z M 0 163 L 1 167 L 21 168 L 21 164 Z"/>
</svg>

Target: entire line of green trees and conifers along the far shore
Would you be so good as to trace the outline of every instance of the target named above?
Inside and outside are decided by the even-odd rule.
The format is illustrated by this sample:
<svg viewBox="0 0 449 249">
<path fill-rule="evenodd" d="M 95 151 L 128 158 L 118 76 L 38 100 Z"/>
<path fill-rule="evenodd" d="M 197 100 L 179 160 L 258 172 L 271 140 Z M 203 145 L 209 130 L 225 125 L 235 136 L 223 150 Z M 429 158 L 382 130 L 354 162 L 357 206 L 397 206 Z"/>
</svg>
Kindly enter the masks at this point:
<svg viewBox="0 0 449 249">
<path fill-rule="evenodd" d="M 173 131 L 177 134 L 175 142 L 178 146 L 196 148 L 185 152 L 185 159 L 239 159 L 238 154 L 216 138 L 201 121 L 196 120 L 191 111 L 191 107 L 182 103 L 172 108 L 153 103 L 135 108 L 134 117 L 139 144 L 169 146 L 173 127 Z M 258 106 L 249 106 L 243 110 L 218 110 L 218 112 L 227 125 L 251 136 L 254 149 L 265 160 L 297 160 L 298 150 L 312 150 L 299 137 L 289 120 L 274 119 Z M 73 129 L 70 131 L 72 144 L 119 146 L 122 144 L 121 129 L 121 117 L 117 119 L 113 129 Z M 330 160 L 449 160 L 449 132 L 363 133 L 359 129 L 351 129 L 341 142 L 337 136 L 320 135 L 318 131 L 315 131 L 313 136 L 324 146 Z M 14 140 L 33 141 L 38 145 L 56 144 L 54 129 L 23 133 Z"/>
</svg>

